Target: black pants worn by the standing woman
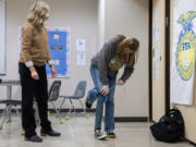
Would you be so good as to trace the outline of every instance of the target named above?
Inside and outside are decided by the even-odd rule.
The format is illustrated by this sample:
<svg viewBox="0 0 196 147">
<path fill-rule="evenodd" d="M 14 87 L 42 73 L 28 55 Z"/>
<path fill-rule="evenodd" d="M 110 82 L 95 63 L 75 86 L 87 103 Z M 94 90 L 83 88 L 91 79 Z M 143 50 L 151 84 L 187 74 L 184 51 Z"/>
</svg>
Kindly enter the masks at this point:
<svg viewBox="0 0 196 147">
<path fill-rule="evenodd" d="M 36 135 L 36 122 L 33 109 L 34 98 L 37 101 L 40 125 L 46 131 L 51 131 L 51 123 L 48 121 L 48 83 L 45 66 L 35 66 L 39 79 L 32 77 L 30 71 L 24 63 L 19 63 L 19 72 L 22 86 L 22 125 L 25 136 Z"/>
</svg>

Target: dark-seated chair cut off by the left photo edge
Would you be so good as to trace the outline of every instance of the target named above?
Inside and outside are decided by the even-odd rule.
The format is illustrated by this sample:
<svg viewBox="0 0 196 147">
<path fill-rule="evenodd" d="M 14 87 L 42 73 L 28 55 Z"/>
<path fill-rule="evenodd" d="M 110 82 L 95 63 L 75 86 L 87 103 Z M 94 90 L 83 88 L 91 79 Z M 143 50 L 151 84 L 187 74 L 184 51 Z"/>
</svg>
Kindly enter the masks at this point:
<svg viewBox="0 0 196 147">
<path fill-rule="evenodd" d="M 0 120 L 0 130 L 3 128 L 4 122 L 9 123 L 11 122 L 11 113 L 12 110 L 15 110 L 16 113 L 20 113 L 17 109 L 13 109 L 13 107 L 17 107 L 22 105 L 21 100 L 0 100 L 0 105 L 5 105 L 5 108 L 2 111 Z"/>
</svg>

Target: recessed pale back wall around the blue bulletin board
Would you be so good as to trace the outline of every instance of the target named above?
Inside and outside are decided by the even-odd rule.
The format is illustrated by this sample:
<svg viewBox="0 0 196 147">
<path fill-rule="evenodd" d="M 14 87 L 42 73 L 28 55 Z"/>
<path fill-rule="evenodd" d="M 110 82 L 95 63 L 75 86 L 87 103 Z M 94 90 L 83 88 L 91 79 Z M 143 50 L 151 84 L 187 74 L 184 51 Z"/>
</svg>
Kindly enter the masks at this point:
<svg viewBox="0 0 196 147">
<path fill-rule="evenodd" d="M 60 95 L 71 95 L 79 79 L 87 81 L 87 89 L 93 87 L 89 74 L 89 61 L 97 52 L 98 1 L 97 0 L 46 0 L 51 14 L 47 26 L 71 28 L 71 76 L 61 78 Z M 19 26 L 26 22 L 28 8 L 35 0 L 7 0 L 7 75 L 0 78 L 19 78 Z M 79 3 L 79 4 L 78 4 Z M 86 65 L 76 64 L 76 39 L 86 40 Z M 49 79 L 49 86 L 52 79 Z M 20 96 L 21 89 L 15 87 L 13 97 Z M 5 87 L 0 87 L 1 99 L 5 97 Z M 65 108 L 68 106 L 65 105 Z"/>
</svg>

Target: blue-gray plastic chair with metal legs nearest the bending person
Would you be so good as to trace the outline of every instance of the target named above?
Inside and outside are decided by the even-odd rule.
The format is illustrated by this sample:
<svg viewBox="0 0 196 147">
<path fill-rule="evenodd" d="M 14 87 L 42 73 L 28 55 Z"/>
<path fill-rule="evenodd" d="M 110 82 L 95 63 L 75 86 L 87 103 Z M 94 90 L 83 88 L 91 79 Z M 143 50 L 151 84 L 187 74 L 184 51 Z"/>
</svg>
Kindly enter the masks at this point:
<svg viewBox="0 0 196 147">
<path fill-rule="evenodd" d="M 84 113 L 86 114 L 86 109 L 81 100 L 85 96 L 85 91 L 86 91 L 86 81 L 81 81 L 78 82 L 75 88 L 75 91 L 72 96 L 59 96 L 60 98 L 63 98 L 63 101 L 61 102 L 59 111 L 61 112 L 61 109 L 62 109 L 63 103 L 65 102 L 65 99 L 70 99 L 70 103 L 72 108 L 70 109 L 69 113 L 71 113 L 72 110 L 74 110 L 74 105 L 72 100 L 78 100 Z M 66 119 L 69 119 L 69 115 L 66 115 Z"/>
</svg>

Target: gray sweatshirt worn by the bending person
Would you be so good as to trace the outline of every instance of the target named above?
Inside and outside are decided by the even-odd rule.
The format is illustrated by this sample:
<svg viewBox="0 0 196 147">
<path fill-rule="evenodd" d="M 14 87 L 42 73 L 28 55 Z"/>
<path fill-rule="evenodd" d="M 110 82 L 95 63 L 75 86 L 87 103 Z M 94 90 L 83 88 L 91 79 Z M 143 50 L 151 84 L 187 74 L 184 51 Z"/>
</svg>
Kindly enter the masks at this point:
<svg viewBox="0 0 196 147">
<path fill-rule="evenodd" d="M 117 74 L 119 70 L 111 70 L 109 68 L 109 62 L 118 56 L 118 46 L 121 42 L 120 39 L 110 39 L 107 42 L 105 42 L 103 47 L 97 54 L 91 59 L 91 65 L 96 66 L 99 70 L 99 76 L 100 81 L 103 85 L 109 85 L 110 78 L 117 78 Z M 134 57 L 132 65 L 124 65 L 124 72 L 121 76 L 121 79 L 123 82 L 126 82 L 127 78 L 130 78 L 131 74 L 134 71 Z"/>
</svg>

